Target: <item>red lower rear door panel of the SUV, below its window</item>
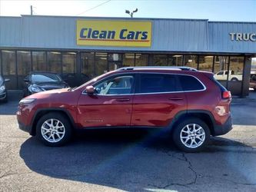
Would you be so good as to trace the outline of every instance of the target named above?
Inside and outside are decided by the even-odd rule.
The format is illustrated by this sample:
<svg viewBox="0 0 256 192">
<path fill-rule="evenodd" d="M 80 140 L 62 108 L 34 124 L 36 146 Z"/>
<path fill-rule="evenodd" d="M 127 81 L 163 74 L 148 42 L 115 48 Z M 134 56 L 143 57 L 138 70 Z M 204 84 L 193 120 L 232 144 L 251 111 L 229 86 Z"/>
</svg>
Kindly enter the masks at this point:
<svg viewBox="0 0 256 192">
<path fill-rule="evenodd" d="M 137 94 L 133 101 L 131 126 L 165 127 L 181 110 L 187 110 L 185 94 Z"/>
</svg>

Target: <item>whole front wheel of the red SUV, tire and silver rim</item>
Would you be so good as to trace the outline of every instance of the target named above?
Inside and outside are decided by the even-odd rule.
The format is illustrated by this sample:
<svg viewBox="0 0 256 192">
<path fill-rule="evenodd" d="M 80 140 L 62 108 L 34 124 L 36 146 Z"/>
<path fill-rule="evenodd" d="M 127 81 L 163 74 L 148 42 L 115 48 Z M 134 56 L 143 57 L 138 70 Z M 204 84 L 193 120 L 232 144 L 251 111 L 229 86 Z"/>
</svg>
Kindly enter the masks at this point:
<svg viewBox="0 0 256 192">
<path fill-rule="evenodd" d="M 66 144 L 70 141 L 71 134 L 70 122 L 58 112 L 45 114 L 36 125 L 36 136 L 50 147 L 59 147 Z"/>
</svg>

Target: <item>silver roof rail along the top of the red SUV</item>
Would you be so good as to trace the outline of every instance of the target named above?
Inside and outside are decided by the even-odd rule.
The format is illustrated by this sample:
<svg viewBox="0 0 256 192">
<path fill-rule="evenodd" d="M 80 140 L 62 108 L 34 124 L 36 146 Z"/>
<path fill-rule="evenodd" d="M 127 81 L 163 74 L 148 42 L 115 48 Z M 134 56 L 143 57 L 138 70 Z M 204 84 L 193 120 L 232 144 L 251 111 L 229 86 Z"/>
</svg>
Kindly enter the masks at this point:
<svg viewBox="0 0 256 192">
<path fill-rule="evenodd" d="M 185 66 L 141 66 L 141 67 L 124 67 L 118 68 L 118 71 L 121 70 L 135 70 L 135 69 L 170 69 L 170 70 L 181 70 L 181 71 L 198 71 L 195 68 L 185 67 Z"/>
</svg>

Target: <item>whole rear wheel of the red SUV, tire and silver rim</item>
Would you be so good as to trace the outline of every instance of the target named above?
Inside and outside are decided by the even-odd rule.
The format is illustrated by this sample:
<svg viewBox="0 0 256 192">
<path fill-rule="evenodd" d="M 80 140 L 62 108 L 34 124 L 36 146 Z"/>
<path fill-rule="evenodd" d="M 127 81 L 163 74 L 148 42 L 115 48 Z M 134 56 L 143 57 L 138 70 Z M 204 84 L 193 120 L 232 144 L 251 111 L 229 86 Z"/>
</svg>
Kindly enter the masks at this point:
<svg viewBox="0 0 256 192">
<path fill-rule="evenodd" d="M 193 130 L 194 128 L 196 131 Z M 208 144 L 210 131 L 204 121 L 198 118 L 188 118 L 175 126 L 172 137 L 176 147 L 181 151 L 193 153 L 202 151 L 205 145 Z"/>
</svg>

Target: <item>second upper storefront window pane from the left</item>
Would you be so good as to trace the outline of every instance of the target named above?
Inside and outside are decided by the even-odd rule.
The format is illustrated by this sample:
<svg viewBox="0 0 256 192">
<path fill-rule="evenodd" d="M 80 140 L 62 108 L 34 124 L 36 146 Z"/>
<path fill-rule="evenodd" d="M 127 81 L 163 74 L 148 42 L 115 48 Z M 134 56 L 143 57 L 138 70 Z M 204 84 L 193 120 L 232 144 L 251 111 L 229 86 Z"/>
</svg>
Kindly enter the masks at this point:
<svg viewBox="0 0 256 192">
<path fill-rule="evenodd" d="M 32 71 L 31 52 L 17 51 L 18 75 L 26 75 Z"/>
</svg>

